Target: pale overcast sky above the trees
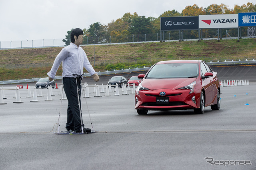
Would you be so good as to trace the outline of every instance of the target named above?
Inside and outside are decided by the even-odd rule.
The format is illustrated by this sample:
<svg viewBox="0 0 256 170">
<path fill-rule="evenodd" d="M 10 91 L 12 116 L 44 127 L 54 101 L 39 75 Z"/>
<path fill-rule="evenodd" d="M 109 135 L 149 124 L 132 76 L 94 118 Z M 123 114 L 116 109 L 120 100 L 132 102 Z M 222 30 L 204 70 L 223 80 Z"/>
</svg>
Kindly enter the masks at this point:
<svg viewBox="0 0 256 170">
<path fill-rule="evenodd" d="M 67 31 L 107 25 L 130 12 L 158 18 L 168 10 L 182 12 L 197 4 L 221 3 L 233 9 L 254 0 L 0 0 L 0 41 L 64 39 Z"/>
</svg>

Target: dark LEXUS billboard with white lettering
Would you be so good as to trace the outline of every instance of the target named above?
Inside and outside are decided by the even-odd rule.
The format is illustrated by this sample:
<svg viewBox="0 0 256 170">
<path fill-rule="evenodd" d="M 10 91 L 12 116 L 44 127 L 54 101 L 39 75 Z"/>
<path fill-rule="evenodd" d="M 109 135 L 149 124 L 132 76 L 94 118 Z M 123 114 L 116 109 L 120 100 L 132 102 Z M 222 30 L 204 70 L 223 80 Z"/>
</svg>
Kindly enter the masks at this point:
<svg viewBox="0 0 256 170">
<path fill-rule="evenodd" d="M 198 29 L 198 16 L 161 17 L 161 30 Z"/>
</svg>

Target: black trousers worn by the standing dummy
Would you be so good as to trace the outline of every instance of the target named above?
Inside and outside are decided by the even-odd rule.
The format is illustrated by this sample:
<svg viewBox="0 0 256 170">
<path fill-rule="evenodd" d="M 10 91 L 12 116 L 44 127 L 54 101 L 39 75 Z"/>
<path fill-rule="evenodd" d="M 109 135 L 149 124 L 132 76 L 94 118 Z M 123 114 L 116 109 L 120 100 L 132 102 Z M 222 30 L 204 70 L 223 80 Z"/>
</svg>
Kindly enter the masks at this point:
<svg viewBox="0 0 256 170">
<path fill-rule="evenodd" d="M 77 83 L 77 86 L 76 86 Z M 79 111 L 79 105 L 78 105 L 78 98 L 77 98 L 77 87 L 80 89 L 78 91 L 79 95 L 79 102 L 81 107 L 81 80 L 76 80 L 76 78 L 70 78 L 70 77 L 63 77 L 63 85 L 64 85 L 64 91 L 66 93 L 67 99 L 68 99 L 68 120 L 66 124 L 66 129 L 80 132 L 81 126 L 84 127 L 84 124 L 81 124 L 80 118 L 80 111 Z M 82 113 L 81 113 L 82 116 Z"/>
</svg>

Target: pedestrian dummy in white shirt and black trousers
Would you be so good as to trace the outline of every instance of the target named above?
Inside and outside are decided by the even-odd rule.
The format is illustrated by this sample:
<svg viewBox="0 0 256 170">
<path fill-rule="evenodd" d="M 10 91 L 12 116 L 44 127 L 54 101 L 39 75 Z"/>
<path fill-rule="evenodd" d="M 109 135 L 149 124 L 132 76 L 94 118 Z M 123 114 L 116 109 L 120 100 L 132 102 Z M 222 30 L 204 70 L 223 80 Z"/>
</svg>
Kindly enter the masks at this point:
<svg viewBox="0 0 256 170">
<path fill-rule="evenodd" d="M 60 51 L 52 65 L 52 69 L 47 75 L 49 76 L 49 80 L 54 79 L 62 62 L 62 83 L 68 99 L 66 129 L 67 131 L 75 131 L 77 133 L 90 133 L 91 129 L 84 127 L 81 112 L 81 80 L 84 68 L 86 68 L 94 81 L 97 82 L 100 78 L 88 61 L 86 53 L 80 47 L 83 35 L 82 29 L 72 29 L 70 33 L 70 45 Z"/>
</svg>

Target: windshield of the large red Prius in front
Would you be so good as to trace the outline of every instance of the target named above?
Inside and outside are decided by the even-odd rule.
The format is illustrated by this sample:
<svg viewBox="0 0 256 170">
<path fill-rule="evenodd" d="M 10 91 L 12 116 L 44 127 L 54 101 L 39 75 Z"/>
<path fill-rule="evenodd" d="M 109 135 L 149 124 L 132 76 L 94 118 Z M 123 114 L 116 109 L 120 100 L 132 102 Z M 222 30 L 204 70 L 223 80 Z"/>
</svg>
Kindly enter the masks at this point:
<svg viewBox="0 0 256 170">
<path fill-rule="evenodd" d="M 196 63 L 156 64 L 146 78 L 192 78 L 198 76 Z"/>
</svg>

